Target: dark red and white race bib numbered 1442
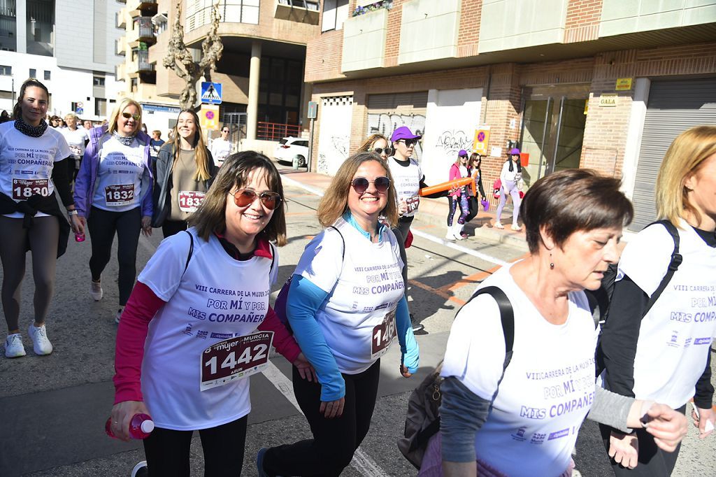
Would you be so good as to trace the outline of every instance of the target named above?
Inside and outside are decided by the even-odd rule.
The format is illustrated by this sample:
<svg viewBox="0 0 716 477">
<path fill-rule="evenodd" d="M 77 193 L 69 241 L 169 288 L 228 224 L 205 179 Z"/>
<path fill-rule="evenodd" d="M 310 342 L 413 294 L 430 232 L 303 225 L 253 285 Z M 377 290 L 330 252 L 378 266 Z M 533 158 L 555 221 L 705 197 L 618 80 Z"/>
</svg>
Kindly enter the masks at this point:
<svg viewBox="0 0 716 477">
<path fill-rule="evenodd" d="M 256 332 L 212 344 L 201 353 L 200 390 L 223 386 L 263 371 L 269 365 L 274 332 Z"/>
</svg>

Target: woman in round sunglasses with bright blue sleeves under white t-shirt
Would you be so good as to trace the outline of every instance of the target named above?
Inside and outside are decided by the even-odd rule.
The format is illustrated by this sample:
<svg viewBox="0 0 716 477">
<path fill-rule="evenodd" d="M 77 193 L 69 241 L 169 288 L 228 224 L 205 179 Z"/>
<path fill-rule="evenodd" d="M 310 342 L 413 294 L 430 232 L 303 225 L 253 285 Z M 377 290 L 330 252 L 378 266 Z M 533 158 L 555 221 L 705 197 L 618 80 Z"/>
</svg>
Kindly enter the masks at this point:
<svg viewBox="0 0 716 477">
<path fill-rule="evenodd" d="M 326 229 L 306 246 L 294 271 L 286 313 L 318 382 L 299 379 L 294 394 L 313 439 L 258 451 L 258 475 L 339 476 L 367 435 L 377 397 L 380 357 L 397 337 L 400 372 L 417 370 L 390 170 L 375 153 L 341 165 L 318 209 Z M 395 363 L 397 364 L 397 363 Z"/>
</svg>

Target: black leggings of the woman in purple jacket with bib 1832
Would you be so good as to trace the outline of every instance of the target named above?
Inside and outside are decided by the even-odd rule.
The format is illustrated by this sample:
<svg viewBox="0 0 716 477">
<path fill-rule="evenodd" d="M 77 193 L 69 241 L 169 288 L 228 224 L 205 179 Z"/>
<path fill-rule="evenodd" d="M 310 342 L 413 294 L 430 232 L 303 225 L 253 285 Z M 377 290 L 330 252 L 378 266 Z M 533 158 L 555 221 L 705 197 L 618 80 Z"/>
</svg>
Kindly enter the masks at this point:
<svg viewBox="0 0 716 477">
<path fill-rule="evenodd" d="M 89 271 L 92 280 L 99 281 L 105 266 L 112 257 L 112 241 L 117 233 L 117 263 L 120 265 L 120 306 L 127 304 L 137 277 L 137 245 L 142 230 L 142 213 L 139 207 L 126 212 L 103 211 L 92 207 L 87 220 L 92 238 L 92 257 Z"/>
</svg>

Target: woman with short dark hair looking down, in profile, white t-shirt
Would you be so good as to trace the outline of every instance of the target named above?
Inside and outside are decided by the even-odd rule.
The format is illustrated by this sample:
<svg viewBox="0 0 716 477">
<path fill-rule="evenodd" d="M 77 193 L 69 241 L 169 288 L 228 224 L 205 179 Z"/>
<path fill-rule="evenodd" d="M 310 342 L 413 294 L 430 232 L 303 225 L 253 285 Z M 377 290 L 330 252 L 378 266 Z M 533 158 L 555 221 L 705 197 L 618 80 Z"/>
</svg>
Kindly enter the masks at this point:
<svg viewBox="0 0 716 477">
<path fill-rule="evenodd" d="M 685 434 L 683 416 L 664 405 L 652 408 L 623 397 L 605 405 L 596 393 L 598 330 L 584 289 L 599 288 L 607 266 L 619 257 L 621 228 L 632 218 L 619 180 L 583 169 L 548 175 L 530 188 L 522 212 L 530 255 L 479 287 L 496 286 L 509 299 L 512 351 L 506 350 L 493 297 L 479 295 L 460 309 L 442 365 L 440 434 L 429 445 L 422 476 L 476 470 L 488 476 L 571 476 L 571 450 L 593 404 L 601 415 L 591 418 L 620 427 L 639 427 L 647 410 L 663 416 L 669 432 L 657 435 L 671 450 L 673 440 Z M 442 469 L 434 458 L 440 445 Z"/>
</svg>

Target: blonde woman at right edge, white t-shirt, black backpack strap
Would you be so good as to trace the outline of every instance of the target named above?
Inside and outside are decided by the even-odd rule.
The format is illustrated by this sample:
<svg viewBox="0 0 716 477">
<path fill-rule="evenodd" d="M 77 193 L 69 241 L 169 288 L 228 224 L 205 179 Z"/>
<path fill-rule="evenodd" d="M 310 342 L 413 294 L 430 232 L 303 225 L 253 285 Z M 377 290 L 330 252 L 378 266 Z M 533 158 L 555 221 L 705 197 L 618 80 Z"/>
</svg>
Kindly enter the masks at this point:
<svg viewBox="0 0 716 477">
<path fill-rule="evenodd" d="M 667 273 L 674 238 L 661 223 L 629 241 L 619 260 L 609 319 L 600 340 L 604 386 L 621 395 L 654 399 L 684 413 L 687 401 L 700 438 L 716 423 L 711 345 L 716 335 L 716 126 L 681 133 L 664 155 L 656 184 L 659 218 L 677 229 L 681 263 L 653 306 Z M 709 425 L 710 424 L 710 425 Z M 617 476 L 669 476 L 678 450 L 664 453 L 652 436 L 624 435 L 602 426 L 609 453 L 624 451 L 634 471 L 612 463 Z"/>
</svg>

